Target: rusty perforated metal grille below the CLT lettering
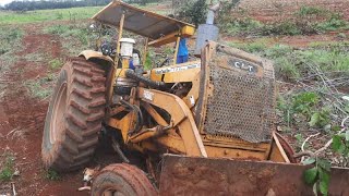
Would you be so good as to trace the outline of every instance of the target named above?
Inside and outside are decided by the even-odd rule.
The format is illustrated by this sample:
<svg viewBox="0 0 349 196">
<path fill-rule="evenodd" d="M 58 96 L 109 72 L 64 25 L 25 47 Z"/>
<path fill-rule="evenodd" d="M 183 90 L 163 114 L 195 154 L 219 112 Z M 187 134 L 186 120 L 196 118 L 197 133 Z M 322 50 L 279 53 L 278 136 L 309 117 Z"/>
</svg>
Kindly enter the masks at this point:
<svg viewBox="0 0 349 196">
<path fill-rule="evenodd" d="M 273 75 L 240 75 L 214 64 L 208 65 L 214 91 L 208 97 L 204 132 L 251 143 L 269 140 L 275 119 Z"/>
</svg>

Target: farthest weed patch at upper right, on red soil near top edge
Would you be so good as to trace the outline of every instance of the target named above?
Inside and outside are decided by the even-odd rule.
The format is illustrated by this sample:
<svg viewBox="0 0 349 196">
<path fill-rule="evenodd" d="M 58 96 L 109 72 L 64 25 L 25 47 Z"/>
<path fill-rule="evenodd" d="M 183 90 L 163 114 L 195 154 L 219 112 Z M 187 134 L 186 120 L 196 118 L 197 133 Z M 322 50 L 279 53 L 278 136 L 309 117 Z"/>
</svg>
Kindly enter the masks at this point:
<svg viewBox="0 0 349 196">
<path fill-rule="evenodd" d="M 349 29 L 349 23 L 338 13 L 316 7 L 301 7 L 291 17 L 280 19 L 273 23 L 260 23 L 234 10 L 233 17 L 225 17 L 218 23 L 221 32 L 228 35 L 310 35 L 330 30 Z"/>
</svg>

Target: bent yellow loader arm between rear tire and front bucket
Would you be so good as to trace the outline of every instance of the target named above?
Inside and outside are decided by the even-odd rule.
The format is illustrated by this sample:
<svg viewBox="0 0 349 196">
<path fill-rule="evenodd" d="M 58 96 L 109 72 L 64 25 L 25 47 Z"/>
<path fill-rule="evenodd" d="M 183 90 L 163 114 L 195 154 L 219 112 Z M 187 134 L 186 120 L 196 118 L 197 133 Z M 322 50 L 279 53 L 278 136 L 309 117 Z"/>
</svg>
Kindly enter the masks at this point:
<svg viewBox="0 0 349 196">
<path fill-rule="evenodd" d="M 157 144 L 165 146 L 172 152 L 193 157 L 207 157 L 193 114 L 182 99 L 169 93 L 143 87 L 139 87 L 135 95 L 137 95 L 137 99 L 141 101 L 136 100 L 132 102 L 142 106 L 156 120 L 158 127 L 168 126 L 168 130 L 166 133 L 159 133 L 156 128 L 142 128 L 139 133 L 130 136 L 129 131 L 133 128 L 135 115 L 120 106 L 113 109 L 110 114 L 116 117 L 122 112 L 128 113 L 121 119 L 110 117 L 106 123 L 111 127 L 120 130 L 124 143 L 131 144 L 132 147 L 140 151 L 144 149 L 157 151 L 158 149 L 153 142 L 156 140 Z M 153 106 L 166 110 L 171 115 L 169 124 Z M 154 139 L 152 140 L 151 138 Z"/>
</svg>

